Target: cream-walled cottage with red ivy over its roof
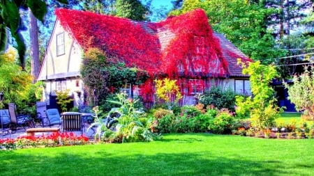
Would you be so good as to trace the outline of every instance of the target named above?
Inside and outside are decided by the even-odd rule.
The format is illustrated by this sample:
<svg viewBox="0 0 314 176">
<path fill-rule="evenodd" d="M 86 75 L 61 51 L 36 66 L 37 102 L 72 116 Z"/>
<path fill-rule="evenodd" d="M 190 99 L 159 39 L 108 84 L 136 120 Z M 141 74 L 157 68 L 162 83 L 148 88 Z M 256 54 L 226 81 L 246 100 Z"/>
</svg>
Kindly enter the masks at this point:
<svg viewBox="0 0 314 176">
<path fill-rule="evenodd" d="M 204 10 L 197 9 L 162 22 L 130 19 L 79 10 L 57 9 L 57 20 L 47 46 L 38 81 L 45 81 L 45 100 L 56 90 L 70 89 L 75 106 L 84 102 L 80 66 L 91 47 L 116 56 L 130 67 L 151 75 L 163 74 L 177 83 L 184 95 L 181 104 L 194 104 L 194 95 L 211 86 L 251 94 L 248 76 L 237 60 L 247 58 L 223 34 L 214 33 Z M 141 86 L 126 84 L 124 90 L 154 104 L 153 79 Z"/>
</svg>

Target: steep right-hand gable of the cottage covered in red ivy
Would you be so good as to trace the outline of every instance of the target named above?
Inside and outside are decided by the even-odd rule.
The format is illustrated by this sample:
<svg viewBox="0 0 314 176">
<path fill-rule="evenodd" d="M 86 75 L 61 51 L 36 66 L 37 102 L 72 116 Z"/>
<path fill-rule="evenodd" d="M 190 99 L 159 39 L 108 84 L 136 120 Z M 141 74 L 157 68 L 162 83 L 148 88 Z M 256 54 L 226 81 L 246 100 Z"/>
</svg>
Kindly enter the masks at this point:
<svg viewBox="0 0 314 176">
<path fill-rule="evenodd" d="M 170 33 L 160 38 L 163 71 L 168 75 L 182 72 L 188 77 L 226 77 L 227 62 L 204 10 L 167 18 L 157 26 L 159 33 Z"/>
</svg>

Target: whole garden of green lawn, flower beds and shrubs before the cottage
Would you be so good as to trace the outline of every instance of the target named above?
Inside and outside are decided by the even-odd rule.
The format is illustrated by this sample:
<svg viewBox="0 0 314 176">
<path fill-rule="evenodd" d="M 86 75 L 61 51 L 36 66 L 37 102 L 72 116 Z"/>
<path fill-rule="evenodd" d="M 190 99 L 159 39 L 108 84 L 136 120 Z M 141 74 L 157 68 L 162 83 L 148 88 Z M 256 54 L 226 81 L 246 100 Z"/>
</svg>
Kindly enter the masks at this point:
<svg viewBox="0 0 314 176">
<path fill-rule="evenodd" d="M 140 99 L 114 93 L 91 110 L 95 119 L 89 130 L 96 129 L 94 140 L 67 132 L 1 139 L 5 167 L 0 173 L 313 175 L 314 123 L 308 103 L 314 86 L 309 81 L 313 73 L 308 72 L 295 77 L 293 86 L 286 85 L 301 113 L 283 113 L 278 107 L 269 86 L 276 70 L 259 62 L 244 67 L 251 76 L 252 97 L 212 87 L 195 95 L 197 104 L 178 106 L 181 94 L 171 79 L 156 80 L 156 97 L 162 103 L 151 109 L 145 109 Z M 31 113 L 41 84 L 31 84 L 22 73 L 14 76 L 18 82 L 6 92 L 6 100 L 15 99 Z M 306 95 L 295 94 L 305 90 Z M 59 99 L 66 94 L 59 93 Z M 112 115 L 110 123 L 108 115 Z"/>
</svg>

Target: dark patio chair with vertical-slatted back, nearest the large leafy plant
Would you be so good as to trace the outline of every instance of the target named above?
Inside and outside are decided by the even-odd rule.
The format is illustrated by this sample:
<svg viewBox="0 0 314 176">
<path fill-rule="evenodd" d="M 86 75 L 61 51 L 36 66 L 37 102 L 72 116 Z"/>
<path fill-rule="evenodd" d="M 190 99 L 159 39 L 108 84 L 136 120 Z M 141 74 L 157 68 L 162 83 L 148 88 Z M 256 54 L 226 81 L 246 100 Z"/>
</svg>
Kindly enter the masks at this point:
<svg viewBox="0 0 314 176">
<path fill-rule="evenodd" d="M 81 131 L 83 134 L 82 113 L 65 112 L 61 114 L 61 120 L 61 131 Z"/>
</svg>

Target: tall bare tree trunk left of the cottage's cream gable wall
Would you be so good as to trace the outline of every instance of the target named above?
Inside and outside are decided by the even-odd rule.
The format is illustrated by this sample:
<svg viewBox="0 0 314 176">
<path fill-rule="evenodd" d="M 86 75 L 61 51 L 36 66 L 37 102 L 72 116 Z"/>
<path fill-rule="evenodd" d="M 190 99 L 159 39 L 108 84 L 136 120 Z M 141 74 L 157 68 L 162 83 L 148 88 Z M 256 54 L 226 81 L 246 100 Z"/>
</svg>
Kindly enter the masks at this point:
<svg viewBox="0 0 314 176">
<path fill-rule="evenodd" d="M 38 26 L 37 26 L 37 19 L 31 13 L 29 9 L 29 33 L 30 33 L 30 40 L 31 40 L 31 49 L 30 49 L 30 56 L 31 56 L 31 75 L 33 76 L 33 83 L 36 82 L 39 74 L 39 46 L 38 46 Z"/>
</svg>

